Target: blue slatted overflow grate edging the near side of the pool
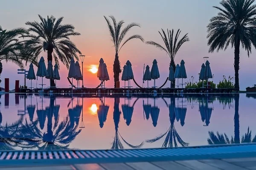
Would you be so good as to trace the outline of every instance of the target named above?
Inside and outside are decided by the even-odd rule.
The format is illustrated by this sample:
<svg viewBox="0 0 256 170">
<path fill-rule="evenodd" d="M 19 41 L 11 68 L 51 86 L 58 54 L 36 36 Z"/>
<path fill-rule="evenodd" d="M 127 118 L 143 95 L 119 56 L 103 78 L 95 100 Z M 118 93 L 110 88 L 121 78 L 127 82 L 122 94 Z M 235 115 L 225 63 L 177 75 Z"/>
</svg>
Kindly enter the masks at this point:
<svg viewBox="0 0 256 170">
<path fill-rule="evenodd" d="M 256 157 L 256 144 L 224 144 L 129 150 L 9 150 L 0 151 L 1 166 L 175 161 Z"/>
</svg>

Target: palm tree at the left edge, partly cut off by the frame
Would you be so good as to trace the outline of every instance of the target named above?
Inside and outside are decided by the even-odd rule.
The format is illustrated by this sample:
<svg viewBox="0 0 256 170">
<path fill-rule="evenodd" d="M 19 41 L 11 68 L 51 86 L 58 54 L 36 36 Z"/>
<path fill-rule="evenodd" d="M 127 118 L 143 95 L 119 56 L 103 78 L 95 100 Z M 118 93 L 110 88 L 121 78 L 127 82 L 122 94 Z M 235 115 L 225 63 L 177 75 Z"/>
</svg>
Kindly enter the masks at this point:
<svg viewBox="0 0 256 170">
<path fill-rule="evenodd" d="M 3 71 L 2 61 L 13 62 L 20 68 L 23 68 L 23 61 L 36 63 L 29 55 L 24 55 L 23 45 L 18 38 L 27 31 L 24 28 L 15 28 L 12 30 L 3 30 L 0 26 L 0 75 Z M 1 82 L 1 80 L 0 80 Z"/>
</svg>

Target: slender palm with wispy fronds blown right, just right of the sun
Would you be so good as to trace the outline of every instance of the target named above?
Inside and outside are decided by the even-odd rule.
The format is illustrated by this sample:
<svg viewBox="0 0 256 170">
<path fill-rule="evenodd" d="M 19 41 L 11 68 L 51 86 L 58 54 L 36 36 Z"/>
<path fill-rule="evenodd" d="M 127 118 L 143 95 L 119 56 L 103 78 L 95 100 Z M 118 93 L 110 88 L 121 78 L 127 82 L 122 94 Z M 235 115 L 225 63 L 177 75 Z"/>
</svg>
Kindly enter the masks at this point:
<svg viewBox="0 0 256 170">
<path fill-rule="evenodd" d="M 125 35 L 128 33 L 128 31 L 130 31 L 131 28 L 134 27 L 134 26 L 140 27 L 140 24 L 138 24 L 138 23 L 129 23 L 123 30 L 121 30 L 122 25 L 125 22 L 123 20 L 121 20 L 118 23 L 116 23 L 115 17 L 113 17 L 113 16 L 109 16 L 109 17 L 113 21 L 113 25 L 111 25 L 108 18 L 104 16 L 105 20 L 108 23 L 108 29 L 109 29 L 109 32 L 110 32 L 111 41 L 113 42 L 113 45 L 115 47 L 116 55 L 115 55 L 114 64 L 113 64 L 113 73 L 114 73 L 114 87 L 116 88 L 116 82 L 119 81 L 119 75 L 121 73 L 121 66 L 120 66 L 119 56 L 118 56 L 119 51 L 126 44 L 126 42 L 128 42 L 129 40 L 140 39 L 142 42 L 144 42 L 144 39 L 141 35 L 134 34 L 131 37 L 129 37 L 127 40 L 125 40 L 121 45 L 121 42 L 122 42 L 122 40 L 124 40 Z"/>
</svg>

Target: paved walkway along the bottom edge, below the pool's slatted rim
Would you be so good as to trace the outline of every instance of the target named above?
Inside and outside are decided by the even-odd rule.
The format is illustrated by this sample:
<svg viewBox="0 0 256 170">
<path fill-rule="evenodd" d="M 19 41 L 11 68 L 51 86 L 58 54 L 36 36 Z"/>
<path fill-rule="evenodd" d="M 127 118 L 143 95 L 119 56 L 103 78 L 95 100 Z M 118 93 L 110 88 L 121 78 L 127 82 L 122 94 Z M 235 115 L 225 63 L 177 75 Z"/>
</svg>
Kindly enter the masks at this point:
<svg viewBox="0 0 256 170">
<path fill-rule="evenodd" d="M 209 159 L 157 161 L 117 164 L 74 164 L 44 167 L 0 167 L 0 170 L 256 170 L 256 157 L 242 159 Z"/>
</svg>

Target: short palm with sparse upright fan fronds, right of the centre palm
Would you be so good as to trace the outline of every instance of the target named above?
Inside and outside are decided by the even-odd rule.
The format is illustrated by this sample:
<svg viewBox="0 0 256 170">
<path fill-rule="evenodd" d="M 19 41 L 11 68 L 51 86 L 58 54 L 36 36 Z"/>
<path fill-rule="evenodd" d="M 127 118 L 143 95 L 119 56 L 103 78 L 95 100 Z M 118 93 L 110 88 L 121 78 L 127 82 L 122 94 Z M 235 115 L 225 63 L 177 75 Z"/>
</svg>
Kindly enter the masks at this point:
<svg viewBox="0 0 256 170">
<path fill-rule="evenodd" d="M 158 48 L 162 51 L 165 51 L 171 59 L 169 66 L 171 67 L 171 65 L 172 65 L 173 70 L 175 71 L 175 69 L 176 69 L 176 65 L 174 62 L 175 56 L 176 56 L 177 52 L 179 51 L 181 45 L 183 45 L 183 43 L 189 41 L 188 33 L 185 34 L 180 40 L 178 40 L 178 38 L 180 36 L 180 32 L 181 32 L 180 29 L 178 29 L 175 37 L 173 35 L 173 33 L 174 33 L 173 29 L 172 29 L 172 31 L 167 29 L 168 37 L 166 36 L 166 33 L 163 29 L 162 29 L 163 34 L 160 31 L 158 31 L 158 32 L 161 35 L 166 48 L 164 48 L 162 45 L 160 45 L 159 43 L 154 42 L 154 41 L 147 41 L 146 44 L 154 45 L 156 48 Z M 169 67 L 169 69 L 170 69 L 170 67 Z M 172 88 L 175 88 L 175 81 L 172 81 Z"/>
</svg>

